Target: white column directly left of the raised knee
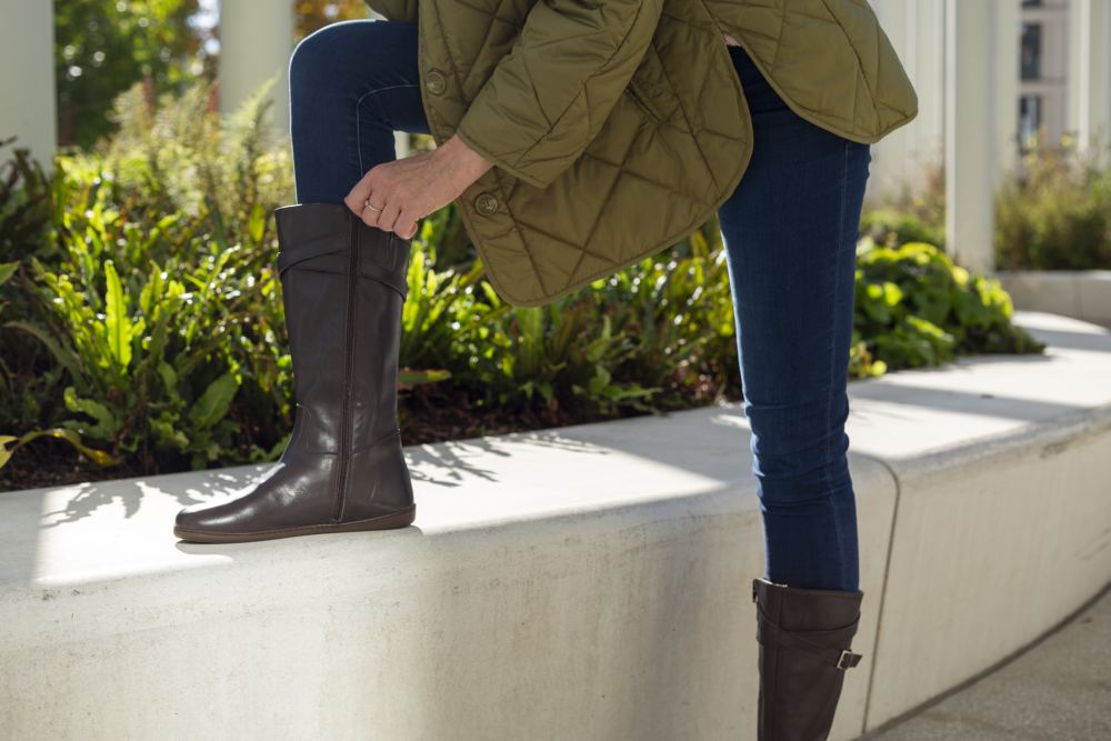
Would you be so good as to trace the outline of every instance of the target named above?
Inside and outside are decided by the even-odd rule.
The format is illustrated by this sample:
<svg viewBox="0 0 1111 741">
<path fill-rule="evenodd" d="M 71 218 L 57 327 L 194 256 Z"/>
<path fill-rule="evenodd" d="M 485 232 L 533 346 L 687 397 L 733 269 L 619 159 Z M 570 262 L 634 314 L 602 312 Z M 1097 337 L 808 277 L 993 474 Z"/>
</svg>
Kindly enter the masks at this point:
<svg viewBox="0 0 1111 741">
<path fill-rule="evenodd" d="M 273 130 L 289 132 L 289 58 L 293 51 L 290 0 L 220 0 L 220 111 L 231 112 L 270 76 Z"/>
</svg>

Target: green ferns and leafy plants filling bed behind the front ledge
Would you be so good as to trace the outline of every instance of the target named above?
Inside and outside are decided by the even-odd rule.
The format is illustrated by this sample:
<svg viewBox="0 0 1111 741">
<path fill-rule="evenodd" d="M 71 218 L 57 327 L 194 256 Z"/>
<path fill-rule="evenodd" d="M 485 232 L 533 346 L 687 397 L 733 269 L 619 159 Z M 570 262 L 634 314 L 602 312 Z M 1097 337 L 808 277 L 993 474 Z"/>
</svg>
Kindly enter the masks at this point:
<svg viewBox="0 0 1111 741">
<path fill-rule="evenodd" d="M 19 224 L 0 241 L 0 467 L 39 439 L 134 473 L 280 453 L 294 404 L 271 212 L 293 189 L 288 148 L 260 126 L 268 89 L 222 122 L 204 81 L 154 102 L 133 86 L 111 140 L 58 157 L 49 180 L 24 168 L 0 183 L 0 220 Z M 865 223 L 854 375 L 1037 348 L 998 283 L 918 241 L 927 228 Z M 466 238 L 448 207 L 412 240 L 402 388 L 450 379 L 476 408 L 574 420 L 739 388 L 717 219 L 530 309 L 493 291 Z"/>
</svg>

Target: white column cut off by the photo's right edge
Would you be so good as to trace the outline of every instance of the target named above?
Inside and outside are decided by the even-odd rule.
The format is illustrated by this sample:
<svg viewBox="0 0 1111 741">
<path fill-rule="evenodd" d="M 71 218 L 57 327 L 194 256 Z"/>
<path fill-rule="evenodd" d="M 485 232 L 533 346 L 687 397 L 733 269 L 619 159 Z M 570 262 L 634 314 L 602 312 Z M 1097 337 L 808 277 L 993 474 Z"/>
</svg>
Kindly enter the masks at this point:
<svg viewBox="0 0 1111 741">
<path fill-rule="evenodd" d="M 1069 7 L 1069 129 L 1087 150 L 1111 146 L 1111 0 Z"/>
</svg>

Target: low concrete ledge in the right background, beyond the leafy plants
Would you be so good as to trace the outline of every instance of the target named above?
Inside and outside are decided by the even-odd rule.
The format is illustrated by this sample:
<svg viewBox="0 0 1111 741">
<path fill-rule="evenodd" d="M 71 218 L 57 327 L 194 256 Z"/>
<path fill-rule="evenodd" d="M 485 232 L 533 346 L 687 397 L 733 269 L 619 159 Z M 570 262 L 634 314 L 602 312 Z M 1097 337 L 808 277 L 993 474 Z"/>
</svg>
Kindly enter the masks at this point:
<svg viewBox="0 0 1111 741">
<path fill-rule="evenodd" d="M 1111 327 L 1111 270 L 1001 270 L 993 273 L 1015 309 Z"/>
</svg>

